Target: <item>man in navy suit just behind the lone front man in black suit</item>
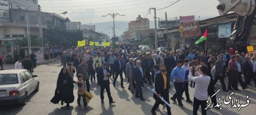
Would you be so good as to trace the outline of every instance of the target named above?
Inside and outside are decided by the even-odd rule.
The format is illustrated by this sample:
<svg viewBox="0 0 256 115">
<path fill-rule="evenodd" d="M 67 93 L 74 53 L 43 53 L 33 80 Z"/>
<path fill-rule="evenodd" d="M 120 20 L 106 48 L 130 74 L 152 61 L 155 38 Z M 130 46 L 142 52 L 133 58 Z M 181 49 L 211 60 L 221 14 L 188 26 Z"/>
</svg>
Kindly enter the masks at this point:
<svg viewBox="0 0 256 115">
<path fill-rule="evenodd" d="M 115 79 L 113 82 L 114 87 L 116 86 L 116 79 L 118 75 L 120 75 L 121 79 L 121 87 L 124 88 L 123 86 L 123 69 L 122 69 L 122 62 L 121 62 L 121 55 L 117 55 L 117 59 L 114 61 L 114 72 L 115 72 Z"/>
</svg>

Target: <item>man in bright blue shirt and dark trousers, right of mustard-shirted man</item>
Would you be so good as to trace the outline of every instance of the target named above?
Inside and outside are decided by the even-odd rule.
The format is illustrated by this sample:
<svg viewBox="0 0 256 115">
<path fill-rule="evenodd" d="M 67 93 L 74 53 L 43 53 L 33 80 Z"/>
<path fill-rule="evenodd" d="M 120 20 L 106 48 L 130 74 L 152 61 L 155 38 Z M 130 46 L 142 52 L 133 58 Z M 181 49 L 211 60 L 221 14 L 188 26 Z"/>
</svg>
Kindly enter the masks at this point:
<svg viewBox="0 0 256 115">
<path fill-rule="evenodd" d="M 174 87 L 176 90 L 176 93 L 170 99 L 172 99 L 174 101 L 174 103 L 177 103 L 176 102 L 176 98 L 177 98 L 179 106 L 181 108 L 184 108 L 184 105 L 181 102 L 182 89 L 183 89 L 183 85 L 184 85 L 184 83 L 183 83 L 184 82 L 184 70 L 181 66 L 182 66 L 182 60 L 178 59 L 177 66 L 174 68 L 172 74 L 170 74 L 170 77 L 174 79 Z"/>
</svg>

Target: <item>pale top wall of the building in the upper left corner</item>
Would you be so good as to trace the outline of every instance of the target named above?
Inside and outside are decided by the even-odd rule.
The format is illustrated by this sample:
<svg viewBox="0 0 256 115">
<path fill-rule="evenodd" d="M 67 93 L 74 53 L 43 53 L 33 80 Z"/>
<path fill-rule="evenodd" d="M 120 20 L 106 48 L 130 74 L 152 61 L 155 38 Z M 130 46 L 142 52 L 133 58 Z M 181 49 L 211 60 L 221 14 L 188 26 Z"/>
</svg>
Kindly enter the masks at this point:
<svg viewBox="0 0 256 115">
<path fill-rule="evenodd" d="M 38 0 L 9 0 L 9 3 L 12 4 L 12 9 L 16 9 L 16 6 L 19 6 L 23 10 L 38 11 Z"/>
</svg>

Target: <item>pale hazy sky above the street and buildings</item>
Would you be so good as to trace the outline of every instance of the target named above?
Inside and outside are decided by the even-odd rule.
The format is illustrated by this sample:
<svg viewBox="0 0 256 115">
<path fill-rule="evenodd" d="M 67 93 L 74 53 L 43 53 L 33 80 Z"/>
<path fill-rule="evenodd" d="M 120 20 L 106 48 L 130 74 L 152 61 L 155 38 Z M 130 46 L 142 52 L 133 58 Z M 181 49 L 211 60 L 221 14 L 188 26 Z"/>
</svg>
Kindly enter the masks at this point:
<svg viewBox="0 0 256 115">
<path fill-rule="evenodd" d="M 154 20 L 154 10 L 148 12 L 150 8 L 156 8 L 157 17 L 174 19 L 176 16 L 195 15 L 195 19 L 207 16 L 219 16 L 216 9 L 219 2 L 217 0 L 38 0 L 42 12 L 68 13 L 62 15 L 69 17 L 71 21 L 80 21 L 82 24 L 95 24 L 97 22 L 112 21 L 111 16 L 102 17 L 109 13 L 119 13 L 125 16 L 116 16 L 117 21 L 132 21 L 140 14 Z M 175 3 L 177 2 L 177 3 Z M 174 4 L 175 3 L 175 4 Z M 172 5 L 173 4 L 173 5 Z M 169 6 L 172 5 L 172 6 Z M 169 7 L 167 7 L 169 6 Z M 167 8 L 165 8 L 167 7 Z"/>
</svg>

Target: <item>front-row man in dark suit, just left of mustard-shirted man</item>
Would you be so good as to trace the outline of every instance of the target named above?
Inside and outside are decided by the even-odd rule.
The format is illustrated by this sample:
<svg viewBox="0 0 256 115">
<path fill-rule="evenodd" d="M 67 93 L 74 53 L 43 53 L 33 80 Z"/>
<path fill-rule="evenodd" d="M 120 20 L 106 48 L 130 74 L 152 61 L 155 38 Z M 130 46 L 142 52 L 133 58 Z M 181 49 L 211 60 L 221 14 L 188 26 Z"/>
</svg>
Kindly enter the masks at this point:
<svg viewBox="0 0 256 115">
<path fill-rule="evenodd" d="M 133 78 L 134 78 L 134 83 L 137 85 L 135 97 L 140 98 L 141 101 L 145 101 L 142 94 L 142 85 L 143 85 L 143 80 L 145 79 L 145 74 L 143 72 L 143 68 L 141 67 L 140 60 L 136 62 L 136 66 L 133 68 Z"/>
</svg>

